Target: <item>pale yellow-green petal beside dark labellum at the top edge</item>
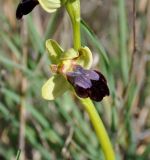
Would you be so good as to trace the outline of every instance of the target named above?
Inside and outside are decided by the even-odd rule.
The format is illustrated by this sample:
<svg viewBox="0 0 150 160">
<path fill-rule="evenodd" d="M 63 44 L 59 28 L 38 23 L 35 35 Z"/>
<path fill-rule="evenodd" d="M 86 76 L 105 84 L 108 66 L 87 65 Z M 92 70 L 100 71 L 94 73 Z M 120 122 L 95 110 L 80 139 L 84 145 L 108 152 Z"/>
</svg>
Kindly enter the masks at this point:
<svg viewBox="0 0 150 160">
<path fill-rule="evenodd" d="M 46 12 L 55 12 L 61 7 L 61 0 L 38 0 Z"/>
</svg>

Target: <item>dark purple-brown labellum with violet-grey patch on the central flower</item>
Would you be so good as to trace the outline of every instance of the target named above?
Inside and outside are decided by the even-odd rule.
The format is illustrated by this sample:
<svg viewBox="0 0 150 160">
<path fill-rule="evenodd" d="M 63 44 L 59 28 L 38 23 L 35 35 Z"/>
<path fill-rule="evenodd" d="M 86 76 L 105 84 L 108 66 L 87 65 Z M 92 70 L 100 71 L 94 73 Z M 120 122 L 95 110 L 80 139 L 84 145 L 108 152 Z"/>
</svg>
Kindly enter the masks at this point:
<svg viewBox="0 0 150 160">
<path fill-rule="evenodd" d="M 90 97 L 92 100 L 101 101 L 103 97 L 109 95 L 107 81 L 98 71 L 83 69 L 76 65 L 73 72 L 67 73 L 67 79 L 81 98 Z"/>
</svg>

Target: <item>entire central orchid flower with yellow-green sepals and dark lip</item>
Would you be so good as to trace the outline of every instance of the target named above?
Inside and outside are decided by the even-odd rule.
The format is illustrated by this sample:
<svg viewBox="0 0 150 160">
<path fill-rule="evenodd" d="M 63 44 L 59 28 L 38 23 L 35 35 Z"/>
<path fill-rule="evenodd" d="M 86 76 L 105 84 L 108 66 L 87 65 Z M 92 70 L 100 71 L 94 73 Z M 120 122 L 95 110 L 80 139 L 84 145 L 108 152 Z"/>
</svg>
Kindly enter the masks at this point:
<svg viewBox="0 0 150 160">
<path fill-rule="evenodd" d="M 56 41 L 47 40 L 46 48 L 53 63 L 50 68 L 54 75 L 42 87 L 44 99 L 54 100 L 72 87 L 81 98 L 90 97 L 101 101 L 109 95 L 104 76 L 90 70 L 93 59 L 88 47 L 81 47 L 78 51 L 73 48 L 64 51 Z"/>
</svg>

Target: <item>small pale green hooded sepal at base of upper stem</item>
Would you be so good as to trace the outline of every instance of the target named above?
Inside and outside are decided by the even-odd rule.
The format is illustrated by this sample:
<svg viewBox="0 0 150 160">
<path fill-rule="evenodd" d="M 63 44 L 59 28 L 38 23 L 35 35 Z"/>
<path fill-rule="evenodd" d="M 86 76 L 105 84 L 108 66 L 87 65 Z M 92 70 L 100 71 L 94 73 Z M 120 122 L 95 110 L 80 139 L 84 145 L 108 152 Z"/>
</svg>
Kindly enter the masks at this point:
<svg viewBox="0 0 150 160">
<path fill-rule="evenodd" d="M 61 60 L 71 60 L 71 59 L 77 58 L 78 56 L 79 56 L 78 51 L 76 51 L 73 48 L 70 48 L 62 54 L 60 59 Z"/>
</svg>

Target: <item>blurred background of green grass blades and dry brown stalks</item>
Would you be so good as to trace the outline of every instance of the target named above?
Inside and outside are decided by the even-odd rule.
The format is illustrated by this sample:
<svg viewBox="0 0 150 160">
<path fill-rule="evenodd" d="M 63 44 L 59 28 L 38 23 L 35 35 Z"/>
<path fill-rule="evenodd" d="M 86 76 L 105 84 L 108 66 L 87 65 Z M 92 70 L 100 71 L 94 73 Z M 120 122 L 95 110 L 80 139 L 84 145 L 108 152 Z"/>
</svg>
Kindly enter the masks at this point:
<svg viewBox="0 0 150 160">
<path fill-rule="evenodd" d="M 18 21 L 18 2 L 0 0 L 0 160 L 14 160 L 19 148 L 20 160 L 104 160 L 78 100 L 70 93 L 51 102 L 41 97 L 50 76 L 45 40 L 72 47 L 67 13 L 38 6 Z M 132 5 L 81 0 L 82 44 L 107 77 L 111 95 L 95 105 L 117 160 L 150 160 L 150 1 L 136 1 L 135 56 Z"/>
</svg>

